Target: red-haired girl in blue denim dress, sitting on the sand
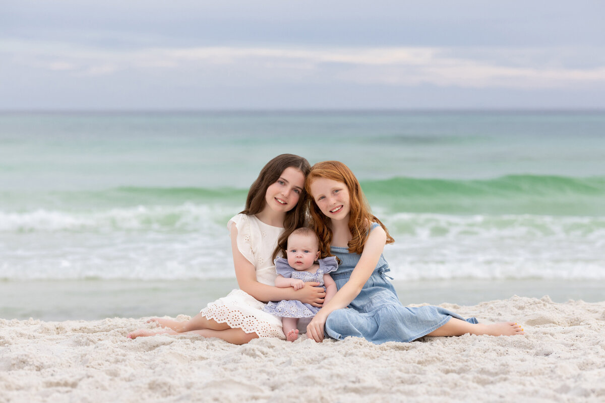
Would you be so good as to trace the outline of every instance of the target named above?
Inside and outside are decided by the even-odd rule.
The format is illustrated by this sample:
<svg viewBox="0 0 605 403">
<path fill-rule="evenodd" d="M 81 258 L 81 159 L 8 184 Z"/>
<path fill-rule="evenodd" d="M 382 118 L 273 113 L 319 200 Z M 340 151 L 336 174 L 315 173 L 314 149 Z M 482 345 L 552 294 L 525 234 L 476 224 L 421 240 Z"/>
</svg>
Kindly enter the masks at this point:
<svg viewBox="0 0 605 403">
<path fill-rule="evenodd" d="M 521 326 L 512 322 L 482 324 L 438 306 L 402 306 L 386 278 L 390 268 L 382 256 L 385 245 L 394 240 L 370 213 L 353 172 L 338 161 L 317 163 L 305 188 L 320 245 L 326 245 L 321 257 L 336 256 L 341 261 L 338 270 L 331 273 L 338 292 L 309 323 L 308 337 L 322 341 L 324 327 L 337 340 L 364 337 L 376 344 L 466 333 L 523 334 Z"/>
</svg>

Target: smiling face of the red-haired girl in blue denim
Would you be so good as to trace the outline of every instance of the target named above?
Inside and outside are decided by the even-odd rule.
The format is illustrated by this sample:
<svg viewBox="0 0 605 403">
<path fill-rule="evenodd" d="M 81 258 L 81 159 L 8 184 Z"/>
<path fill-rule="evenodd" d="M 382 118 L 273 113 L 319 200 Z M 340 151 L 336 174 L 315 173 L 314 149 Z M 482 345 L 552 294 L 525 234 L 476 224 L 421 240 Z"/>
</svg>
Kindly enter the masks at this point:
<svg viewBox="0 0 605 403">
<path fill-rule="evenodd" d="M 310 189 L 315 204 L 325 216 L 348 222 L 351 205 L 347 185 L 332 179 L 318 178 L 312 182 Z"/>
</svg>

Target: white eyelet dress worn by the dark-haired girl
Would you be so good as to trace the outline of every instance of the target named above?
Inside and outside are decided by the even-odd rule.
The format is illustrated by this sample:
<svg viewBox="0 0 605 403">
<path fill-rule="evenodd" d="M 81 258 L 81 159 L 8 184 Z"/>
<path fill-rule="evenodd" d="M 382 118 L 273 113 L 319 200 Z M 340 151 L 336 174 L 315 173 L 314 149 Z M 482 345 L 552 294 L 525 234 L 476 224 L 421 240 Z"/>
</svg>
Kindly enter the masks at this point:
<svg viewBox="0 0 605 403">
<path fill-rule="evenodd" d="M 264 224 L 255 216 L 237 214 L 227 223 L 237 228 L 237 248 L 254 265 L 257 280 L 275 286 L 275 265 L 273 251 L 284 228 Z M 232 328 L 241 328 L 246 333 L 256 333 L 258 337 L 286 338 L 281 326 L 281 318 L 263 312 L 264 303 L 256 300 L 241 289 L 234 289 L 224 298 L 211 302 L 200 311 L 208 319 L 226 323 Z"/>
</svg>

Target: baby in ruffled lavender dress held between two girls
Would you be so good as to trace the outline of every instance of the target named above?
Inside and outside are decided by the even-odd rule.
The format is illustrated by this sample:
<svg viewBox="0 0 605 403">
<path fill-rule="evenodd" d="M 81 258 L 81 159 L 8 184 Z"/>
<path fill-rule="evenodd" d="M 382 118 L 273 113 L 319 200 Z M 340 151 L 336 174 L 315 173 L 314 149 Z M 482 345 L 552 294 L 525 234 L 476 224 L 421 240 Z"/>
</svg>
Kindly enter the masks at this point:
<svg viewBox="0 0 605 403">
<path fill-rule="evenodd" d="M 336 283 L 328 274 L 338 268 L 336 257 L 319 259 L 319 238 L 310 228 L 297 228 L 288 237 L 287 257 L 275 259 L 276 287 L 301 289 L 306 282 L 325 286 L 324 304 L 336 294 Z M 318 260 L 319 259 L 319 260 Z M 316 263 L 317 262 L 317 263 Z M 269 302 L 263 311 L 281 317 L 284 335 L 288 341 L 298 338 L 299 318 L 312 318 L 320 308 L 297 300 Z"/>
</svg>

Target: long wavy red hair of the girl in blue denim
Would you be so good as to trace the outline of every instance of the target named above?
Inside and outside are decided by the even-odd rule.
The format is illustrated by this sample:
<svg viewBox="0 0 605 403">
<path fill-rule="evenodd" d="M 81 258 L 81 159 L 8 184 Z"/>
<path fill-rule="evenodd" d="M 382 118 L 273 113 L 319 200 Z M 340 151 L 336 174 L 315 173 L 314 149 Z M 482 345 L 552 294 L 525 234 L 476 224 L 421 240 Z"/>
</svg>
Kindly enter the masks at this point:
<svg viewBox="0 0 605 403">
<path fill-rule="evenodd" d="M 313 228 L 319 237 L 321 247 L 321 257 L 332 256 L 330 253 L 330 243 L 332 243 L 332 230 L 330 229 L 330 219 L 319 210 L 318 205 L 311 195 L 311 184 L 315 179 L 325 178 L 344 183 L 348 189 L 350 217 L 348 219 L 348 230 L 351 232 L 352 239 L 348 242 L 350 253 L 361 254 L 364 250 L 365 242 L 368 239 L 369 225 L 371 222 L 378 222 L 382 229 L 387 233 L 387 243 L 393 243 L 395 240 L 388 233 L 387 227 L 374 216 L 370 211 L 364 192 L 361 190 L 359 181 L 353 175 L 353 172 L 339 161 L 324 161 L 311 167 L 311 171 L 305 182 L 307 191 L 307 207 L 313 219 Z"/>
</svg>

